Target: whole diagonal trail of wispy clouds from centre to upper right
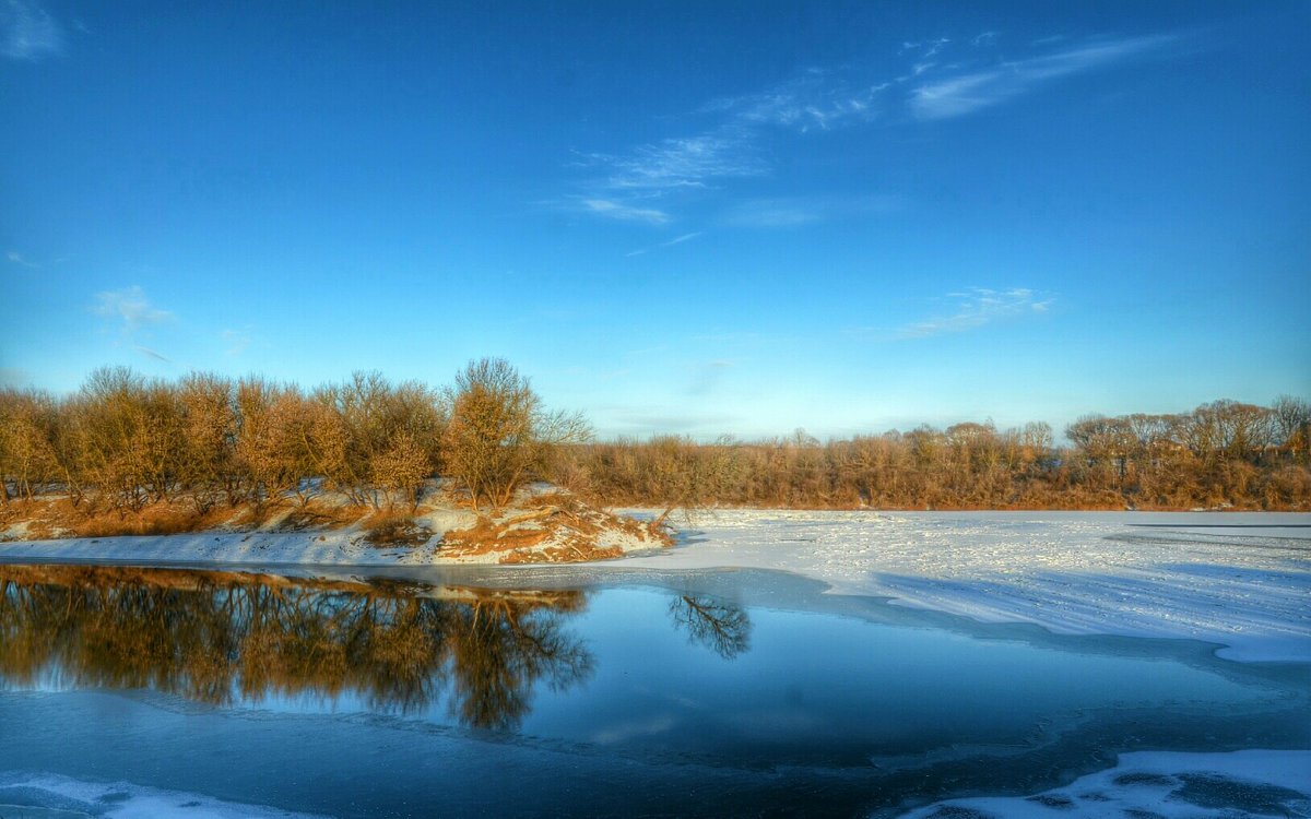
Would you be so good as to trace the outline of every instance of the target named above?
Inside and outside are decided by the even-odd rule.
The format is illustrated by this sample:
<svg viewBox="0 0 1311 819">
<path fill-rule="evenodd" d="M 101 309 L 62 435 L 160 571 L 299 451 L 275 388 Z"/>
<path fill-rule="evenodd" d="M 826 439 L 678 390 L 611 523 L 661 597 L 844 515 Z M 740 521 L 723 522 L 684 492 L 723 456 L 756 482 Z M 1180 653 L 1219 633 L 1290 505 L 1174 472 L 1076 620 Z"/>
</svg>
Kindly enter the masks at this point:
<svg viewBox="0 0 1311 819">
<path fill-rule="evenodd" d="M 662 224 L 686 202 L 714 197 L 739 180 L 770 177 L 771 148 L 780 139 L 872 122 L 914 127 L 962 117 L 1062 77 L 1164 51 L 1177 37 L 1029 43 L 1017 46 L 1027 54 L 1008 62 L 995 58 L 998 39 L 996 31 L 985 30 L 960 41 L 907 41 L 898 52 L 899 69 L 878 73 L 873 62 L 810 68 L 763 90 L 712 100 L 695 113 L 711 122 L 691 136 L 583 155 L 591 176 L 579 180 L 582 193 L 574 200 L 597 216 Z M 758 199 L 737 206 L 726 221 L 787 228 L 825 218 L 808 204 Z"/>
</svg>

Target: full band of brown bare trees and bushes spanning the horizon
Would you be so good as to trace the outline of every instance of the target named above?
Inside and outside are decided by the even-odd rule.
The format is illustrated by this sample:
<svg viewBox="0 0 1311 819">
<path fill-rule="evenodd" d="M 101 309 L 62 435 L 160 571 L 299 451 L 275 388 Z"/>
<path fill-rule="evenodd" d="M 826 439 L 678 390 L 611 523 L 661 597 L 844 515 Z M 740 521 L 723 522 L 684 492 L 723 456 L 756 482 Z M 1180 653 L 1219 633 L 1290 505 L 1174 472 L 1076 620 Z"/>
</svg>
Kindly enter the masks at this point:
<svg viewBox="0 0 1311 819">
<path fill-rule="evenodd" d="M 797 508 L 1311 508 L 1311 404 L 1214 401 L 1190 411 L 1086 415 L 1058 443 L 1032 422 L 819 442 L 595 442 L 547 411 L 499 359 L 452 387 L 378 372 L 304 389 L 260 376 L 149 380 L 93 372 L 73 394 L 0 390 L 5 505 L 67 497 L 88 514 L 152 505 L 206 515 L 309 505 L 324 489 L 374 508 L 417 507 L 446 477 L 476 508 L 544 480 L 602 506 Z"/>
</svg>

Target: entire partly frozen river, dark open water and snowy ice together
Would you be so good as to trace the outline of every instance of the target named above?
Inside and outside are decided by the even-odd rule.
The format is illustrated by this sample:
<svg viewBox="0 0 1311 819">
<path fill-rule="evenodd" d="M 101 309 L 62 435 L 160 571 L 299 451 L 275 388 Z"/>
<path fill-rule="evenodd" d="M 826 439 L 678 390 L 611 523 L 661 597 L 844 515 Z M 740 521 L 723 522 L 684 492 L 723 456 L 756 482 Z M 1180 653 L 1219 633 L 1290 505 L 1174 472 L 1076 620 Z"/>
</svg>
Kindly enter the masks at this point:
<svg viewBox="0 0 1311 819">
<path fill-rule="evenodd" d="M 1308 533 L 724 511 L 531 569 L 5 544 L 0 816 L 1311 815 Z"/>
</svg>

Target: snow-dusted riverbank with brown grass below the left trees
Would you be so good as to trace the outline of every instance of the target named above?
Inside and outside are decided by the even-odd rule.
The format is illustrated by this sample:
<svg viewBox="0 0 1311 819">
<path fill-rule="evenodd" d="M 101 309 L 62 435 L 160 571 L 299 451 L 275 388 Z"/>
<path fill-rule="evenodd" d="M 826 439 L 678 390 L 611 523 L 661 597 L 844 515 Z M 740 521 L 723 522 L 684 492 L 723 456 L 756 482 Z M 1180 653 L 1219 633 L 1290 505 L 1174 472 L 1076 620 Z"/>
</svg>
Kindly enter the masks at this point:
<svg viewBox="0 0 1311 819">
<path fill-rule="evenodd" d="M 211 510 L 185 518 L 185 525 L 177 514 L 163 507 L 115 519 L 69 512 L 60 499 L 28 505 L 10 510 L 12 519 L 0 528 L 0 560 L 9 554 L 148 563 L 557 563 L 670 544 L 666 533 L 632 516 L 590 507 L 548 486 L 530 487 L 498 510 L 475 510 L 434 491 L 413 508 L 374 508 L 320 495 L 308 503 L 283 499 Z"/>
</svg>

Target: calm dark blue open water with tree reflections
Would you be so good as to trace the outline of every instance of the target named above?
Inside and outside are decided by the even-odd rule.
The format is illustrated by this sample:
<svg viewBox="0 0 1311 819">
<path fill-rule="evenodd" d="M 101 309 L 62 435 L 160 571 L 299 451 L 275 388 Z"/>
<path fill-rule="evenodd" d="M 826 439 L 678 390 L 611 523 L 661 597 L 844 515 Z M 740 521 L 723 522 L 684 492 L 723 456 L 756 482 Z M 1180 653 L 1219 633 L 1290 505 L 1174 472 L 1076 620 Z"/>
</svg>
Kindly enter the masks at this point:
<svg viewBox="0 0 1311 819">
<path fill-rule="evenodd" d="M 1311 747 L 1304 666 L 1193 643 L 767 573 L 391 574 L 0 566 L 0 805 L 52 773 L 332 816 L 895 815 Z"/>
</svg>

